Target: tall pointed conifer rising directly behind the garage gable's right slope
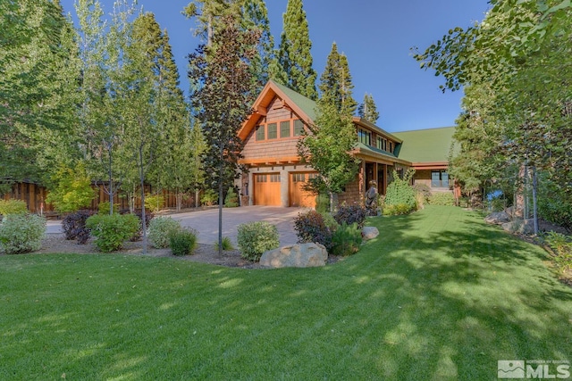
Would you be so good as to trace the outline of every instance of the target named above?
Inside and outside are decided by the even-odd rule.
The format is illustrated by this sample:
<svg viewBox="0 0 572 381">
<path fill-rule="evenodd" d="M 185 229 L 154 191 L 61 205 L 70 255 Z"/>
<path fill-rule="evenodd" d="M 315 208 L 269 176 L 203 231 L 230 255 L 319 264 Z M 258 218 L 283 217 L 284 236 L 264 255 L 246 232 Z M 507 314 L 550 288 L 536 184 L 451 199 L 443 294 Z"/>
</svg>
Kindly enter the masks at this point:
<svg viewBox="0 0 572 381">
<path fill-rule="evenodd" d="M 316 100 L 317 74 L 312 68 L 312 41 L 302 0 L 288 0 L 283 19 L 277 62 L 273 65 L 271 75 L 282 85 Z"/>
</svg>

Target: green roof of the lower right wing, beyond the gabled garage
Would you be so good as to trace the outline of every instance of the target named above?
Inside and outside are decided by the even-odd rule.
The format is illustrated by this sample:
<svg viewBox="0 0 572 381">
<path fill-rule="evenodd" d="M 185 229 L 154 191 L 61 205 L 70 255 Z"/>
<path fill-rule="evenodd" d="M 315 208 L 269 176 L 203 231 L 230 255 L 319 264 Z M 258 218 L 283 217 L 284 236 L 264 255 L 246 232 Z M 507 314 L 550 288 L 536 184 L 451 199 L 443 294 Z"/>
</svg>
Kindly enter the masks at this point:
<svg viewBox="0 0 572 381">
<path fill-rule="evenodd" d="M 393 132 L 403 140 L 395 154 L 408 162 L 448 162 L 454 127 Z"/>
</svg>

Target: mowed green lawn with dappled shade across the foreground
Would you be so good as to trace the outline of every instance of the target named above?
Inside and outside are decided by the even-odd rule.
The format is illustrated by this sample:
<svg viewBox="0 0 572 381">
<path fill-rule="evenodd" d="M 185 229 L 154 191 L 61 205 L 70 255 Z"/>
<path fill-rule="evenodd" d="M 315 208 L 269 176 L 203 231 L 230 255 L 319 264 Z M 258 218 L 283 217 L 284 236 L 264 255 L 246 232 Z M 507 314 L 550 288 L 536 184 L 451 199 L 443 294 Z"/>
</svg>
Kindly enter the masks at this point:
<svg viewBox="0 0 572 381">
<path fill-rule="evenodd" d="M 498 360 L 572 360 L 572 289 L 541 249 L 454 207 L 368 223 L 378 238 L 320 269 L 0 256 L 0 379 L 492 380 Z"/>
</svg>

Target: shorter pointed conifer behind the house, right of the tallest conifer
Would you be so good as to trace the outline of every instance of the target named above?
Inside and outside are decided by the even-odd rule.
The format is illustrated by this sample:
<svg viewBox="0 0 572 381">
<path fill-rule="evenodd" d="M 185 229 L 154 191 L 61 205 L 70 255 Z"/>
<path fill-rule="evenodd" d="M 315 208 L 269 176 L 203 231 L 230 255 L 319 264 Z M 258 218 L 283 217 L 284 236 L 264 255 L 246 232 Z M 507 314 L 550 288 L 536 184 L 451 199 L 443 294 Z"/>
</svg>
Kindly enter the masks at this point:
<svg viewBox="0 0 572 381">
<path fill-rule="evenodd" d="M 352 96 L 353 87 L 348 59 L 338 53 L 338 46 L 334 42 L 320 77 L 320 102 L 333 104 L 342 114 L 353 115 L 357 108 Z"/>
</svg>

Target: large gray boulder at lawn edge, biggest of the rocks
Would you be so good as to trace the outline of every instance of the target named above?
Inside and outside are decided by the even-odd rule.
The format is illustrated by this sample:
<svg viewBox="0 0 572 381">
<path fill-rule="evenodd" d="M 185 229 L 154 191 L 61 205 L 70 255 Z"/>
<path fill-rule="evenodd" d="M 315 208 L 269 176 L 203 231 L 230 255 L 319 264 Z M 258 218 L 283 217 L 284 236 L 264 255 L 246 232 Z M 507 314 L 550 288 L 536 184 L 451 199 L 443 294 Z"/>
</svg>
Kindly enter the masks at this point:
<svg viewBox="0 0 572 381">
<path fill-rule="evenodd" d="M 266 267 L 318 267 L 325 266 L 328 252 L 322 244 L 291 244 L 269 250 L 260 257 L 260 264 Z"/>
</svg>

